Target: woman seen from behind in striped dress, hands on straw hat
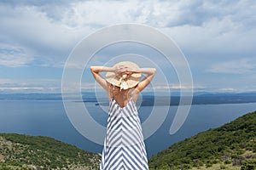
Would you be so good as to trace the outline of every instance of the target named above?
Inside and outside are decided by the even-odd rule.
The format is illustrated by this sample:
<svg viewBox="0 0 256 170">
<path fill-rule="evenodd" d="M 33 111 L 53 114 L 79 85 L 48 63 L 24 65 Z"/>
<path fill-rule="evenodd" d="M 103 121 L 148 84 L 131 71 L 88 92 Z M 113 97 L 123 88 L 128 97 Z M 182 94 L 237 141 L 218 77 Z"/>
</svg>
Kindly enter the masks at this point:
<svg viewBox="0 0 256 170">
<path fill-rule="evenodd" d="M 110 104 L 101 170 L 147 170 L 147 153 L 135 103 L 139 93 L 152 81 L 155 69 L 123 61 L 113 67 L 91 66 L 90 71 L 106 90 Z M 106 78 L 100 75 L 102 71 L 107 71 Z M 146 76 L 140 81 L 142 73 Z"/>
</svg>

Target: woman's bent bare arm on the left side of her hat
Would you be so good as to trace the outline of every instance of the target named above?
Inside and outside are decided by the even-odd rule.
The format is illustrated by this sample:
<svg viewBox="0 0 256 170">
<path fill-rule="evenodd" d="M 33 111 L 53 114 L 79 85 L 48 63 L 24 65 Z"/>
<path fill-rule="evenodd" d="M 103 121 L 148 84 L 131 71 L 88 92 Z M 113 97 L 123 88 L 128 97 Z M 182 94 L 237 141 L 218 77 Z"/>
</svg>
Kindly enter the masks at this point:
<svg viewBox="0 0 256 170">
<path fill-rule="evenodd" d="M 96 82 L 98 82 L 102 88 L 104 88 L 108 92 L 108 82 L 102 77 L 100 72 L 102 71 L 115 71 L 113 67 L 106 66 L 90 66 L 90 71 L 92 76 L 95 78 Z"/>
</svg>

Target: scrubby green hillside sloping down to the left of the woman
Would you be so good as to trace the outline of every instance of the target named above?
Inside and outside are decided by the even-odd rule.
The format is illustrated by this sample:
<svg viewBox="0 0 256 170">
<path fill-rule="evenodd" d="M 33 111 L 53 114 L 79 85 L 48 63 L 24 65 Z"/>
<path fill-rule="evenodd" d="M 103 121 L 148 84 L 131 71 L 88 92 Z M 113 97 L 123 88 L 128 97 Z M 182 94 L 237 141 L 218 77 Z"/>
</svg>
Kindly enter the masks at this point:
<svg viewBox="0 0 256 170">
<path fill-rule="evenodd" d="M 101 156 L 58 140 L 0 133 L 0 169 L 98 169 Z"/>
</svg>

